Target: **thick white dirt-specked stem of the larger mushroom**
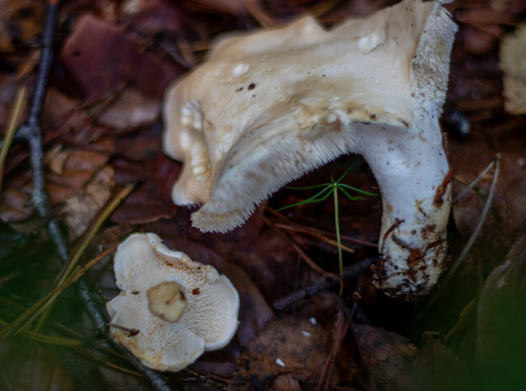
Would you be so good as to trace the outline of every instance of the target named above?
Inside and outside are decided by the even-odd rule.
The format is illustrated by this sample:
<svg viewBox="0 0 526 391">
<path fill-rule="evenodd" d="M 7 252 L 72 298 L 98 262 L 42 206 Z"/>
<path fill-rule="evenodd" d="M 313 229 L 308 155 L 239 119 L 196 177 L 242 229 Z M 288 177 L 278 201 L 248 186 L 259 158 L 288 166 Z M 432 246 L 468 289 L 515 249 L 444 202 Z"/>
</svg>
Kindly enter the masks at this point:
<svg viewBox="0 0 526 391">
<path fill-rule="evenodd" d="M 436 114 L 417 120 L 415 129 L 383 126 L 371 132 L 362 125 L 358 131 L 358 152 L 382 195 L 374 282 L 391 295 L 427 294 L 443 268 L 451 177 Z"/>
</svg>

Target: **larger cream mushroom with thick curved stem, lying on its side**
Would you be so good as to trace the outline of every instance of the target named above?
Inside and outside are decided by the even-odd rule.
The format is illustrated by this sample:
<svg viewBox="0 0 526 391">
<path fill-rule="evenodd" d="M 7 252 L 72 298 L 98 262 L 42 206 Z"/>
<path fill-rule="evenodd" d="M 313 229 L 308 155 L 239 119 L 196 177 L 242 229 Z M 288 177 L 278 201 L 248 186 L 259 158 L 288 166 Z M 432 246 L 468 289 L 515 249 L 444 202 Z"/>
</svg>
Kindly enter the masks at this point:
<svg viewBox="0 0 526 391">
<path fill-rule="evenodd" d="M 226 232 L 292 179 L 360 154 L 382 195 L 375 283 L 426 294 L 442 270 L 451 204 L 438 119 L 456 25 L 441 3 L 220 39 L 166 95 L 164 150 L 184 161 L 174 202 L 203 204 L 194 226 Z"/>
</svg>

